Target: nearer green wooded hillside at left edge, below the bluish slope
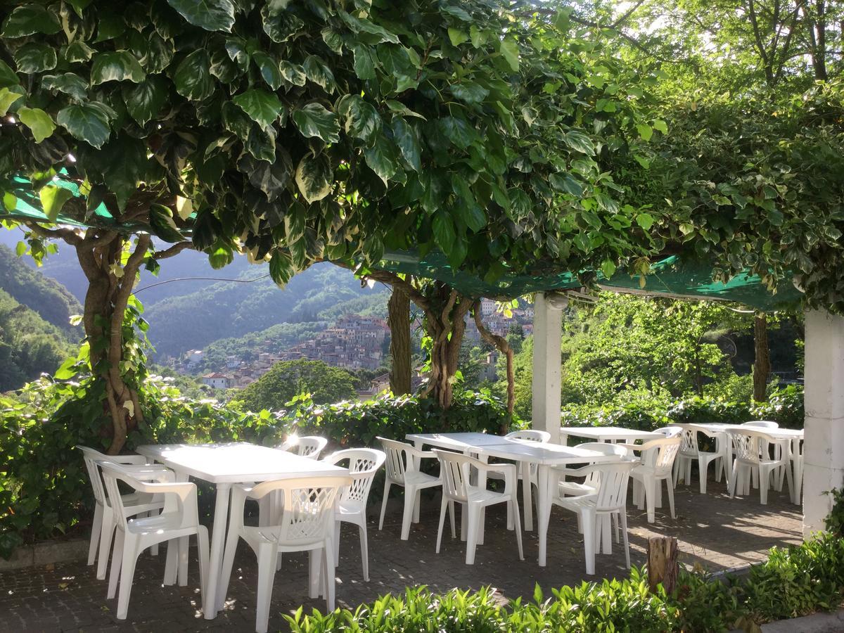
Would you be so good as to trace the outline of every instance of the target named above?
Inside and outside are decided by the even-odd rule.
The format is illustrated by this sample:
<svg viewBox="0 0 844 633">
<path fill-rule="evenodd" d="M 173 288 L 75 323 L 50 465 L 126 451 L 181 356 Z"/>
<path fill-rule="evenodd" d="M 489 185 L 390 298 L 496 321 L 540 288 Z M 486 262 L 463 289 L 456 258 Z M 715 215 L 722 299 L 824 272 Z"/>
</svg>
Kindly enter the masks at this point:
<svg viewBox="0 0 844 633">
<path fill-rule="evenodd" d="M 0 391 L 56 371 L 73 349 L 62 330 L 0 289 Z"/>
</svg>

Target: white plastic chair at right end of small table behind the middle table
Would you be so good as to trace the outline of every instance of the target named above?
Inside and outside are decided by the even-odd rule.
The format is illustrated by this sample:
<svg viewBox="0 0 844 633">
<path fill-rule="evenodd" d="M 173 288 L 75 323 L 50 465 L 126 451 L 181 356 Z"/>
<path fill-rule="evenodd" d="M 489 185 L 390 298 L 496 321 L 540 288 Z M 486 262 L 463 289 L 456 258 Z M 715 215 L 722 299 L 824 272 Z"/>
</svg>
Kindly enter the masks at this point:
<svg viewBox="0 0 844 633">
<path fill-rule="evenodd" d="M 664 440 L 651 440 L 644 444 L 622 444 L 630 451 L 641 452 L 641 463 L 630 471 L 633 477 L 633 502 L 641 508 L 647 503 L 647 522 L 656 521 L 657 490 L 662 490 L 662 482 L 668 489 L 668 506 L 671 518 L 674 514 L 674 458 L 680 447 L 679 437 L 666 437 Z M 644 495 L 642 495 L 644 490 Z"/>
</svg>

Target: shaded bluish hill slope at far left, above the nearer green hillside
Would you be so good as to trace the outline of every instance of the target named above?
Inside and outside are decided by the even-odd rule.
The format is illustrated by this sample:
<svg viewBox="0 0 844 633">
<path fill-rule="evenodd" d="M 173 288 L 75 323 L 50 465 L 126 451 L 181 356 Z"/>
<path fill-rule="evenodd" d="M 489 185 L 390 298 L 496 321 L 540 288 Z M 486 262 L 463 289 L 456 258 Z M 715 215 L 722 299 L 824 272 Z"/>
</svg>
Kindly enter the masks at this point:
<svg viewBox="0 0 844 633">
<path fill-rule="evenodd" d="M 83 337 L 82 327 L 70 324 L 70 317 L 82 314 L 76 297 L 62 284 L 27 266 L 23 257 L 3 245 L 0 245 L 0 289 L 61 330 L 65 338 L 77 342 Z"/>
</svg>

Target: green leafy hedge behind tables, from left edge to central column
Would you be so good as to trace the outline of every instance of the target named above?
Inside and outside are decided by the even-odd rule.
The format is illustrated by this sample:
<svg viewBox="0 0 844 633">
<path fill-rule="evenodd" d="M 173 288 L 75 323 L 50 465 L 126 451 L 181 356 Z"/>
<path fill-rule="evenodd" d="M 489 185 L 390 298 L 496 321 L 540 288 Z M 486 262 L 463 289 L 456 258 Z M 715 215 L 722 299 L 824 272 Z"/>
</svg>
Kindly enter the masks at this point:
<svg viewBox="0 0 844 633">
<path fill-rule="evenodd" d="M 252 413 L 237 403 L 185 398 L 171 379 L 149 376 L 141 392 L 146 421 L 130 433 L 141 444 L 248 441 L 281 443 L 290 432 L 314 432 L 338 446 L 371 446 L 378 435 L 403 437 L 430 430 L 497 432 L 506 407 L 489 392 L 457 394 L 443 414 L 430 399 L 382 395 L 366 402 L 317 405 L 294 398 L 289 408 Z M 98 391 L 99 390 L 99 391 Z M 89 520 L 93 496 L 77 444 L 109 445 L 101 420 L 101 383 L 53 381 L 47 376 L 12 396 L 0 396 L 0 555 L 20 544 L 52 538 Z M 211 484 L 198 482 L 199 511 L 213 510 Z"/>
</svg>

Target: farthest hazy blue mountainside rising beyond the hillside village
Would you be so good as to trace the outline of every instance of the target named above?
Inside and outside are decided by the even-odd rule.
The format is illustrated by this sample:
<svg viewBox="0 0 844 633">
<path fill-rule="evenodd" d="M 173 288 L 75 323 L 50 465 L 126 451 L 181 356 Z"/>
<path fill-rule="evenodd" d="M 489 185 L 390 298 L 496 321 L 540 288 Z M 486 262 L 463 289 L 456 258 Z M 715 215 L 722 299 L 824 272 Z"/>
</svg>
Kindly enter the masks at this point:
<svg viewBox="0 0 844 633">
<path fill-rule="evenodd" d="M 0 230 L 0 244 L 13 249 L 22 237 L 18 230 Z M 59 251 L 46 257 L 39 271 L 62 284 L 78 300 L 84 300 L 88 282 L 79 268 L 76 253 L 71 246 L 61 243 L 58 246 Z M 8 266 L 14 262 L 18 267 L 9 278 L 35 279 L 33 274 L 38 276 L 31 268 L 34 263 L 30 257 L 17 259 L 8 249 L 5 253 L 6 260 L 11 257 Z M 0 257 L 0 266 L 3 261 Z M 0 283 L 0 288 L 5 285 Z M 14 295 L 12 289 L 8 292 Z M 327 327 L 317 322 L 333 322 L 347 313 L 371 313 L 381 310 L 381 306 L 386 314 L 387 301 L 381 286 L 361 288 L 360 280 L 355 279 L 353 273 L 330 263 L 312 266 L 291 279 L 286 288 L 279 289 L 268 277 L 267 264 L 253 265 L 246 257 L 235 257 L 229 266 L 214 270 L 205 254 L 194 251 L 183 251 L 161 262 L 158 277 L 143 271 L 135 293 L 145 307 L 143 317 L 149 322 L 148 336 L 156 350 L 154 358 L 158 360 L 179 356 L 188 349 L 203 349 L 219 339 L 262 333 L 279 323 L 307 323 L 309 327 L 294 328 L 281 335 L 284 342 L 295 344 L 302 337 L 312 338 L 314 333 Z M 370 298 L 375 296 L 379 298 L 373 303 Z M 351 300 L 357 303 L 346 304 Z M 21 302 L 35 306 L 28 300 Z M 71 314 L 81 313 L 81 307 L 74 306 Z M 49 318 L 42 316 L 58 325 L 63 312 L 57 311 L 56 316 L 51 312 Z M 67 323 L 66 319 L 64 323 Z M 229 349 L 231 343 L 226 341 L 219 346 L 218 352 Z"/>
</svg>

